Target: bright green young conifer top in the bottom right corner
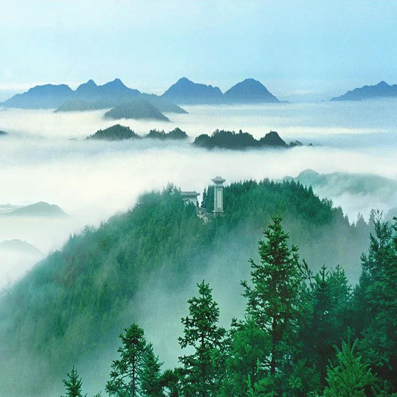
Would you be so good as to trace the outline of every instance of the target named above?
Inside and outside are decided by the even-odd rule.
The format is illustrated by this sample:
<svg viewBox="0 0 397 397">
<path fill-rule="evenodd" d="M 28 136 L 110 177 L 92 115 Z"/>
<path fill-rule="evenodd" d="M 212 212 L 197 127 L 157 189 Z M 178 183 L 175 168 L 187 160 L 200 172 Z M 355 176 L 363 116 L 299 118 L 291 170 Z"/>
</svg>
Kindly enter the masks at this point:
<svg viewBox="0 0 397 397">
<path fill-rule="evenodd" d="M 376 378 L 368 365 L 361 363 L 361 357 L 354 355 L 352 347 L 342 342 L 342 350 L 337 350 L 338 365 L 327 368 L 328 387 L 324 397 L 365 397 L 365 388 L 372 386 Z"/>
</svg>

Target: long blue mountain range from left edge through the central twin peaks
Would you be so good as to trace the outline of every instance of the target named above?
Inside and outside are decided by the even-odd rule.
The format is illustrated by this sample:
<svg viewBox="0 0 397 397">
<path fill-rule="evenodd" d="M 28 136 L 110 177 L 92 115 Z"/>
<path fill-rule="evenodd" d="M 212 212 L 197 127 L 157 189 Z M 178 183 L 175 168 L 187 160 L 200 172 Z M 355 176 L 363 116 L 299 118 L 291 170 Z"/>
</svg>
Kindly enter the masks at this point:
<svg viewBox="0 0 397 397">
<path fill-rule="evenodd" d="M 253 78 L 241 81 L 224 94 L 218 87 L 180 78 L 161 96 L 141 93 L 127 87 L 119 78 L 103 85 L 92 79 L 74 91 L 66 84 L 36 85 L 22 94 L 1 102 L 7 108 L 56 109 L 56 112 L 109 109 L 128 102 L 145 100 L 160 112 L 187 113 L 177 104 L 274 103 L 279 102 L 266 87 Z"/>
</svg>

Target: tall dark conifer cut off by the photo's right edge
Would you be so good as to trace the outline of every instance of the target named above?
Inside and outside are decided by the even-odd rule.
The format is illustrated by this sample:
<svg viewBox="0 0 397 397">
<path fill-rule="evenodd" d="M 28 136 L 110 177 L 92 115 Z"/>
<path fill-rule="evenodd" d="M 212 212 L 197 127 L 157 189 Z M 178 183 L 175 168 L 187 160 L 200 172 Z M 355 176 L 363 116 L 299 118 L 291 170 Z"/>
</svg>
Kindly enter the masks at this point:
<svg viewBox="0 0 397 397">
<path fill-rule="evenodd" d="M 364 361 L 397 392 L 397 224 L 375 213 L 375 234 L 355 289 L 357 348 Z M 396 233 L 393 235 L 393 233 Z"/>
</svg>

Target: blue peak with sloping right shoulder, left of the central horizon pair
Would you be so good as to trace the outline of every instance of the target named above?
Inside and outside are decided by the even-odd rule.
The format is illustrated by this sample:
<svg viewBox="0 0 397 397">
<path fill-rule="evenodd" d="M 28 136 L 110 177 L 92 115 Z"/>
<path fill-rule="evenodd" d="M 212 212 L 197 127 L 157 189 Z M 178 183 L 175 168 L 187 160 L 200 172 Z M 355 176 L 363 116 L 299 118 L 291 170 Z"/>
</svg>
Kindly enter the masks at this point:
<svg viewBox="0 0 397 397">
<path fill-rule="evenodd" d="M 194 83 L 182 77 L 164 92 L 162 98 L 178 104 L 210 104 L 221 103 L 223 94 L 218 87 Z"/>
</svg>

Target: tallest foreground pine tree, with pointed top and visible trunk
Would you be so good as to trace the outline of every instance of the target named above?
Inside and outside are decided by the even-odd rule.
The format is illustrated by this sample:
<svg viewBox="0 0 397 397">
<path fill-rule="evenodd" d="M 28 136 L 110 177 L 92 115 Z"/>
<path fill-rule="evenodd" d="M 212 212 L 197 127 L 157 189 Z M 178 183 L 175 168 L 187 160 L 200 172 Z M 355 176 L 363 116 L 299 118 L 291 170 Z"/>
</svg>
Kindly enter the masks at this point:
<svg viewBox="0 0 397 397">
<path fill-rule="evenodd" d="M 281 217 L 273 216 L 272 224 L 264 231 L 266 241 L 259 241 L 261 263 L 251 263 L 253 286 L 242 281 L 248 299 L 247 312 L 270 339 L 270 351 L 263 366 L 273 376 L 279 372 L 284 341 L 298 315 L 298 290 L 301 276 L 298 269 L 298 248 L 287 246 L 289 238 L 281 226 Z"/>
</svg>

